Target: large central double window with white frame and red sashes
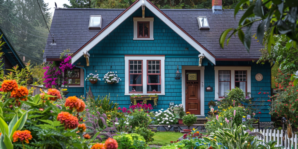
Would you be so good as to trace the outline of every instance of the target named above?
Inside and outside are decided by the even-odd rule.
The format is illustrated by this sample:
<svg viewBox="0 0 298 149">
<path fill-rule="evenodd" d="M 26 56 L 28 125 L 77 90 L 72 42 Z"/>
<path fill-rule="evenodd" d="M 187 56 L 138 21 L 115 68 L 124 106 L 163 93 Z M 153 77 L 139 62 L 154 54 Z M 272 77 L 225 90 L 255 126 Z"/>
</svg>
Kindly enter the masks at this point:
<svg viewBox="0 0 298 149">
<path fill-rule="evenodd" d="M 125 95 L 164 95 L 164 55 L 125 55 Z"/>
</svg>

